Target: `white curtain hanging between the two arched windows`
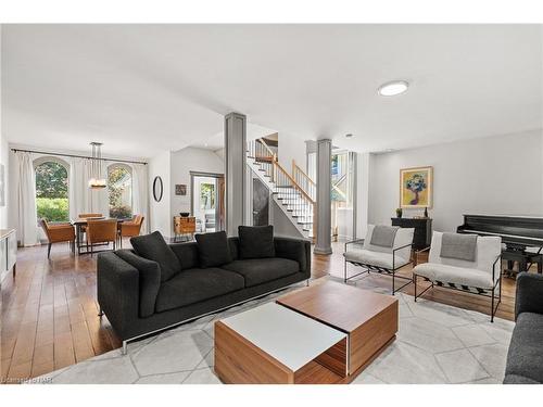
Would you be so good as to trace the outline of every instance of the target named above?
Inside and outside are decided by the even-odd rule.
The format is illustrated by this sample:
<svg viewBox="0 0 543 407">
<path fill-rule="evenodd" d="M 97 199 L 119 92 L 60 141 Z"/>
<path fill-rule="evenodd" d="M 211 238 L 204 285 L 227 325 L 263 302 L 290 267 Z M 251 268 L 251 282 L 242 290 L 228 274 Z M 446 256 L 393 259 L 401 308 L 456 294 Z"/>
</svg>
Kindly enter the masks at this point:
<svg viewBox="0 0 543 407">
<path fill-rule="evenodd" d="M 108 177 L 108 165 L 101 162 L 102 177 Z M 70 217 L 77 218 L 79 214 L 100 213 L 110 215 L 108 188 L 93 190 L 89 188 L 92 178 L 91 161 L 89 158 L 72 158 L 70 163 Z"/>
</svg>

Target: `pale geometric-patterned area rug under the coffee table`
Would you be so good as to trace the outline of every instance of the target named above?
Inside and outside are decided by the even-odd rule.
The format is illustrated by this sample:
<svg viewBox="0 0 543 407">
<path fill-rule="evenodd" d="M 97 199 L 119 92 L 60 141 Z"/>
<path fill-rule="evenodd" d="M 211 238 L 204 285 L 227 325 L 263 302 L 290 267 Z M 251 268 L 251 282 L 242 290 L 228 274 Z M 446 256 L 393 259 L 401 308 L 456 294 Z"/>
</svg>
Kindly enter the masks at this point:
<svg viewBox="0 0 543 407">
<path fill-rule="evenodd" d="M 340 281 L 329 276 L 325 279 Z M 350 282 L 383 292 L 375 278 Z M 182 383 L 218 384 L 213 373 L 213 323 L 274 301 L 292 288 L 226 311 L 128 344 L 128 353 L 109 352 L 45 374 L 39 383 Z M 514 322 L 431 301 L 417 303 L 406 294 L 400 301 L 396 340 L 364 370 L 355 384 L 378 383 L 502 383 Z"/>
</svg>

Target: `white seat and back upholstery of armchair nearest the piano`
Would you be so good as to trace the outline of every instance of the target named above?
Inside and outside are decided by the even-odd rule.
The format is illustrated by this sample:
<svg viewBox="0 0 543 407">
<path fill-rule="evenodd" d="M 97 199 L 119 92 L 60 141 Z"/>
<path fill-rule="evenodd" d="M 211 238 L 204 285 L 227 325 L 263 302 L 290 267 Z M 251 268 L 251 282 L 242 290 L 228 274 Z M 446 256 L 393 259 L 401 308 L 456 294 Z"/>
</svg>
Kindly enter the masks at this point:
<svg viewBox="0 0 543 407">
<path fill-rule="evenodd" d="M 432 245 L 430 249 L 429 263 L 444 264 L 447 266 L 476 268 L 478 270 L 492 274 L 492 266 L 496 257 L 502 253 L 502 238 L 500 237 L 478 237 L 475 262 L 456 258 L 441 257 L 442 232 L 433 232 Z"/>
</svg>

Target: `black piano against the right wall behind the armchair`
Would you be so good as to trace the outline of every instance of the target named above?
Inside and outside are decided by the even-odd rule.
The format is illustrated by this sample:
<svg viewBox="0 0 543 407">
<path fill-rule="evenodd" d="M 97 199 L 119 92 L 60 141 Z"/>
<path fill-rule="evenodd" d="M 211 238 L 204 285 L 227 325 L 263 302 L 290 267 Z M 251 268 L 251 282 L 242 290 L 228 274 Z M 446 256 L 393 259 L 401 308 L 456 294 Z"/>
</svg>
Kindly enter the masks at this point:
<svg viewBox="0 0 543 407">
<path fill-rule="evenodd" d="M 458 233 L 479 236 L 498 236 L 505 249 L 502 258 L 507 260 L 508 274 L 515 262 L 518 271 L 527 271 L 532 264 L 538 264 L 538 272 L 543 271 L 543 217 L 508 215 L 464 215 L 464 225 L 458 226 Z"/>
</svg>

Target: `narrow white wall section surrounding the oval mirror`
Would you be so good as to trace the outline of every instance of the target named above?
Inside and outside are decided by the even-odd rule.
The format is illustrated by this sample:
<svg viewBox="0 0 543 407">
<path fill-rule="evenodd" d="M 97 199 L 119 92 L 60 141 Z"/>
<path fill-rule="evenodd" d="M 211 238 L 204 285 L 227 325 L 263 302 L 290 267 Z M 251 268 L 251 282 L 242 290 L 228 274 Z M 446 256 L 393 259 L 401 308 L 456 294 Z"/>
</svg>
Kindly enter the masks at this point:
<svg viewBox="0 0 543 407">
<path fill-rule="evenodd" d="M 150 232 L 160 231 L 164 237 L 172 236 L 171 205 L 171 152 L 164 152 L 149 161 L 149 225 Z M 162 178 L 164 194 L 160 202 L 153 198 L 153 180 Z"/>
</svg>

